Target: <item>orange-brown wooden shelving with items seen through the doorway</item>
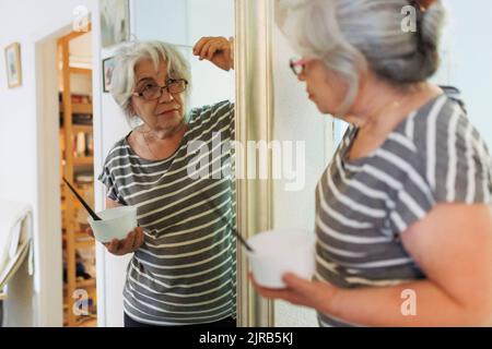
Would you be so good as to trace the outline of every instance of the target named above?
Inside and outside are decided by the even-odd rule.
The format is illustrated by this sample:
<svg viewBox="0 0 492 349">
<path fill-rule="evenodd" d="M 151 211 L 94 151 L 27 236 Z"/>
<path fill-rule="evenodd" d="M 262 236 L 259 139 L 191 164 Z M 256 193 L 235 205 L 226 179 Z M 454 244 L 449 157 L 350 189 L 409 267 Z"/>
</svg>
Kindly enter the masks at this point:
<svg viewBox="0 0 492 349">
<path fill-rule="evenodd" d="M 95 241 L 84 230 L 87 214 L 61 178 L 66 178 L 94 207 L 94 142 L 92 70 L 70 67 L 70 40 L 87 33 L 71 33 L 59 39 L 60 188 L 63 246 L 63 313 L 67 326 L 79 326 L 96 315 Z M 78 315 L 78 291 L 85 290 L 90 314 Z"/>
</svg>

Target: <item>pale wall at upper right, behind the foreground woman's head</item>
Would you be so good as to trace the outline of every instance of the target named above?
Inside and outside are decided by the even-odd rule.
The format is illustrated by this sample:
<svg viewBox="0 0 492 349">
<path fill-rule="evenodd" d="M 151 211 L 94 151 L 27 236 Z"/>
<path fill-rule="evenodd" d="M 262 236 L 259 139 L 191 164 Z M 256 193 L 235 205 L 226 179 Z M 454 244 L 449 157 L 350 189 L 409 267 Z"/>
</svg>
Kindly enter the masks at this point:
<svg viewBox="0 0 492 349">
<path fill-rule="evenodd" d="M 448 25 L 443 40 L 446 52 L 438 82 L 458 87 L 468 117 L 492 149 L 492 2 L 444 0 Z"/>
</svg>

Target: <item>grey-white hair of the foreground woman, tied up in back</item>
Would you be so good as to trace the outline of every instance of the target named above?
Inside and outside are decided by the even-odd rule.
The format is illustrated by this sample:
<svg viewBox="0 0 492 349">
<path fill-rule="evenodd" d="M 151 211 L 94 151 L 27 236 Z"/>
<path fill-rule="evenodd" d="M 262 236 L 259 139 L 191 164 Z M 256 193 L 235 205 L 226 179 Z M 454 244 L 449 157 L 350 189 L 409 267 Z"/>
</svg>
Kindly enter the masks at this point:
<svg viewBox="0 0 492 349">
<path fill-rule="evenodd" d="M 402 28 L 408 5 L 415 10 L 414 32 Z M 347 81 L 341 113 L 354 103 L 368 68 L 399 87 L 423 82 L 438 69 L 445 19 L 440 0 L 424 12 L 409 0 L 280 0 L 278 11 L 278 24 L 294 49 Z"/>
</svg>

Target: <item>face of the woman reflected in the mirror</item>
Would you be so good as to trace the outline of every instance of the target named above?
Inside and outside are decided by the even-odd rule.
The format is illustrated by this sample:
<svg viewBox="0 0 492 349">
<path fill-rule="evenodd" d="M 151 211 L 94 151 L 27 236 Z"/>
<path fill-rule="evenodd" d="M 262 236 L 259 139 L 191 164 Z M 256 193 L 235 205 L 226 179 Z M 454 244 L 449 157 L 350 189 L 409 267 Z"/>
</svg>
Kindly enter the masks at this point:
<svg viewBox="0 0 492 349">
<path fill-rule="evenodd" d="M 165 61 L 161 61 L 159 70 L 155 71 L 152 60 L 147 59 L 137 63 L 136 93 L 141 93 L 150 85 L 164 86 L 167 80 L 180 79 L 181 76 L 168 76 Z M 134 113 L 153 131 L 164 131 L 172 135 L 179 129 L 185 118 L 185 92 L 169 94 L 167 89 L 162 91 L 160 98 L 145 100 L 140 96 L 132 96 L 131 104 Z"/>
</svg>

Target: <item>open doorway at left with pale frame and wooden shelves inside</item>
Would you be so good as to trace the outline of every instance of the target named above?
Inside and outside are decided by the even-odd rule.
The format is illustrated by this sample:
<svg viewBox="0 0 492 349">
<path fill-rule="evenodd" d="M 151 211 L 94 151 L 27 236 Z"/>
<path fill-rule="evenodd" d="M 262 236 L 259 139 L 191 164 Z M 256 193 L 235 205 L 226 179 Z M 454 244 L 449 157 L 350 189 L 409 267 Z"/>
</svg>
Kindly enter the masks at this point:
<svg viewBox="0 0 492 349">
<path fill-rule="evenodd" d="M 61 185 L 61 178 L 67 177 L 84 195 L 93 192 L 87 190 L 93 173 L 92 59 L 78 53 L 93 51 L 90 36 L 90 32 L 72 33 L 70 24 L 40 38 L 35 46 L 40 237 L 35 282 L 39 326 L 96 325 L 95 266 L 84 262 L 95 261 L 95 246 L 81 234 L 83 213 L 75 206 L 74 196 L 68 196 Z M 67 45 L 66 64 L 72 77 L 65 79 L 71 93 L 65 99 L 62 87 L 67 81 L 63 84 L 60 50 L 63 38 L 70 39 L 67 44 L 72 41 Z M 67 139 L 75 143 L 66 142 Z M 71 217 L 68 225 L 67 213 Z"/>
</svg>

